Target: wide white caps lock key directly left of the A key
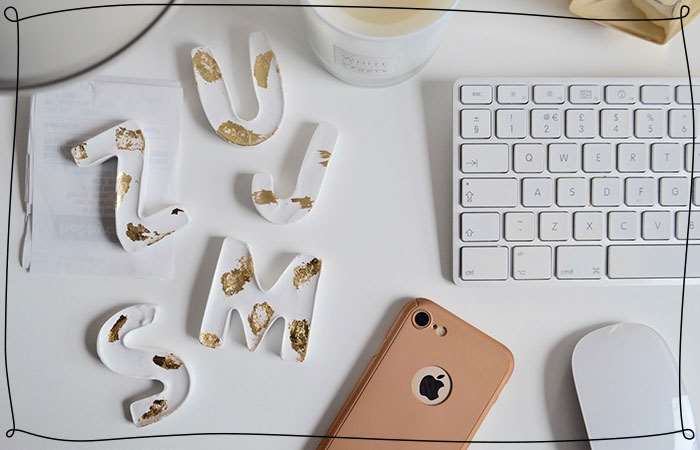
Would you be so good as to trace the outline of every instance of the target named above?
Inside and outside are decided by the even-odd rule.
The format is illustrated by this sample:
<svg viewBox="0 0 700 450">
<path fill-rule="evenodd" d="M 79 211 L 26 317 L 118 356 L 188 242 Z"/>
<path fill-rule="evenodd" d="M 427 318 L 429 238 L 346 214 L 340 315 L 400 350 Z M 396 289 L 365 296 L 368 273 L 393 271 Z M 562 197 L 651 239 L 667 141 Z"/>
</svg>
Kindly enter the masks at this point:
<svg viewBox="0 0 700 450">
<path fill-rule="evenodd" d="M 465 208 L 511 207 L 518 204 L 515 178 L 463 178 L 462 206 Z"/>
</svg>

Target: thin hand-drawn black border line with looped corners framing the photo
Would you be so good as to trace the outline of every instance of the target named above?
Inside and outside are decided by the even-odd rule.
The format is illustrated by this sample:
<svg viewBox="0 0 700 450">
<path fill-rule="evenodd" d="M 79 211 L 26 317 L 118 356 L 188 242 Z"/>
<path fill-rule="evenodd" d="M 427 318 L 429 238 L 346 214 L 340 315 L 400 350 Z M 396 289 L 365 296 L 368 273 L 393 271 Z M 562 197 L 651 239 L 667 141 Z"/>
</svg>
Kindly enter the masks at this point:
<svg viewBox="0 0 700 450">
<path fill-rule="evenodd" d="M 55 436 L 47 436 L 39 433 L 34 433 L 29 430 L 23 430 L 17 428 L 15 422 L 14 407 L 12 404 L 12 393 L 10 390 L 10 376 L 9 369 L 7 365 L 7 305 L 8 305 L 8 285 L 9 285 L 9 258 L 10 258 L 10 231 L 11 231 L 11 221 L 12 221 L 12 188 L 14 180 L 14 170 L 15 170 L 15 150 L 17 142 L 17 109 L 19 104 L 19 62 L 20 62 L 20 40 L 19 40 L 19 24 L 22 21 L 29 20 L 36 17 L 48 16 L 64 12 L 72 11 L 82 11 L 91 9 L 104 9 L 104 8 L 118 8 L 126 6 L 218 6 L 218 7 L 234 7 L 234 6 L 249 6 L 249 7 L 295 7 L 295 8 L 308 8 L 308 7 L 320 7 L 320 8 L 365 8 L 365 9 L 394 9 L 394 10 L 420 10 L 420 11 L 452 11 L 461 13 L 475 13 L 475 14 L 491 14 L 491 15 L 511 15 L 511 16 L 525 16 L 525 17 L 542 17 L 542 18 L 552 18 L 552 19 L 567 19 L 567 20 L 586 20 L 594 22 L 645 22 L 645 21 L 671 21 L 678 20 L 681 25 L 681 36 L 683 39 L 683 52 L 685 56 L 685 63 L 688 75 L 688 86 L 690 90 L 690 103 L 691 103 L 691 116 L 692 116 L 692 157 L 690 163 L 690 193 L 688 201 L 688 222 L 686 226 L 686 239 L 685 239 L 685 255 L 684 255 L 684 265 L 683 265 L 683 281 L 681 290 L 681 308 L 680 308 L 680 326 L 679 326 L 679 336 L 678 336 L 678 408 L 680 414 L 680 425 L 679 430 L 668 431 L 665 433 L 654 433 L 654 434 L 643 434 L 643 435 L 632 435 L 632 436 L 613 436 L 613 437 L 601 437 L 601 438 L 577 438 L 577 439 L 551 439 L 551 440 L 438 440 L 438 439 L 408 439 L 408 438 L 396 438 L 396 437 L 369 437 L 369 436 L 329 436 L 320 434 L 293 434 L 293 433 L 256 433 L 256 432 L 220 432 L 220 433 L 176 433 L 176 434 L 152 434 L 144 436 L 119 436 L 119 437 L 107 437 L 107 438 L 95 438 L 95 439 L 71 439 L 71 438 L 61 438 Z M 13 17 L 10 16 L 13 15 Z M 162 15 L 163 13 L 161 13 Z M 609 19 L 609 18 L 593 18 L 593 17 L 576 17 L 576 16 L 563 16 L 563 15 L 553 15 L 553 14 L 537 14 L 537 13 L 523 13 L 523 12 L 512 12 L 512 11 L 488 11 L 488 10 L 476 10 L 476 9 L 451 9 L 451 8 L 417 8 L 417 7 L 385 7 L 385 6 L 358 6 L 358 5 L 313 5 L 313 4 L 274 4 L 274 3 L 178 3 L 173 5 L 171 0 L 169 3 L 120 3 L 112 5 L 98 5 L 98 6 L 86 6 L 79 8 L 68 8 L 55 11 L 47 11 L 39 14 L 33 14 L 30 16 L 20 17 L 17 9 L 13 6 L 8 6 L 4 10 L 5 18 L 16 24 L 17 28 L 17 71 L 15 80 L 15 115 L 13 123 L 13 134 L 12 134 L 12 156 L 10 162 L 10 188 L 9 188 L 9 201 L 8 201 L 8 218 L 7 218 L 7 248 L 5 252 L 5 315 L 3 318 L 4 326 L 4 362 L 5 362 L 5 380 L 7 384 L 7 395 L 10 405 L 10 416 L 12 418 L 12 427 L 5 432 L 7 438 L 14 436 L 15 432 L 23 433 L 29 436 L 38 437 L 41 439 L 47 439 L 51 441 L 59 442 L 78 442 L 78 443 L 88 443 L 88 442 L 108 442 L 108 441 L 127 441 L 136 439 L 149 439 L 149 438 L 169 438 L 169 437 L 196 437 L 196 436 L 260 436 L 260 437 L 292 437 L 292 438 L 315 438 L 315 439 L 342 439 L 342 440 L 359 440 L 359 441 L 393 441 L 393 442 L 415 442 L 415 443 L 451 443 L 451 444 L 545 444 L 545 443 L 569 443 L 569 442 L 597 442 L 597 441 L 621 441 L 629 439 L 646 439 L 660 436 L 668 436 L 673 434 L 682 434 L 687 440 L 692 440 L 695 438 L 695 431 L 690 428 L 686 428 L 683 422 L 683 384 L 682 384 L 682 349 L 683 349 L 683 312 L 685 309 L 685 292 L 686 292 L 686 275 L 688 268 L 688 246 L 690 238 L 690 212 L 692 211 L 692 200 L 694 195 L 694 183 L 693 178 L 695 175 L 695 99 L 693 97 L 693 80 L 690 73 L 690 61 L 688 59 L 688 47 L 685 38 L 685 28 L 683 24 L 683 19 L 690 14 L 690 8 L 688 6 L 681 7 L 681 15 L 678 17 L 664 17 L 658 19 Z M 128 43 L 126 46 L 122 47 L 117 52 L 103 59 L 99 63 L 91 66 L 87 70 L 92 70 L 95 67 L 107 62 L 113 57 L 117 56 L 122 51 L 126 50 L 135 40 L 137 40 L 141 35 L 143 35 L 148 29 L 153 26 L 153 22 L 149 27 L 144 30 L 139 36 L 137 36 L 132 42 Z M 73 76 L 78 76 L 83 74 L 83 70 L 76 73 Z M 73 76 L 69 76 L 73 77 Z M 65 78 L 57 81 L 64 81 Z M 50 84 L 50 83 L 48 83 Z"/>
</svg>

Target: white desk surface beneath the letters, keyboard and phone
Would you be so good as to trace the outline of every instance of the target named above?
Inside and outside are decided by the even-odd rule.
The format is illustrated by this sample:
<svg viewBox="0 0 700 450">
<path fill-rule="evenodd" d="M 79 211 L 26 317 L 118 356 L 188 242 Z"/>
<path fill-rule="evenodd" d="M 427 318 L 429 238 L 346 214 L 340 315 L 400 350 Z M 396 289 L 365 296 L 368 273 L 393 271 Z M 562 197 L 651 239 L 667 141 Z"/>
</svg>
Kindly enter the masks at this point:
<svg viewBox="0 0 700 450">
<path fill-rule="evenodd" d="M 464 7 L 567 14 L 567 1 L 499 0 Z M 196 44 L 220 48 L 225 70 L 247 61 L 246 33 L 265 30 L 283 68 L 288 109 L 269 143 L 237 150 L 210 129 L 189 63 Z M 691 67 L 700 24 L 687 31 Z M 242 73 L 245 73 L 242 68 Z M 594 23 L 462 14 L 454 17 L 432 62 L 399 86 L 372 90 L 334 79 L 314 60 L 301 11 L 289 8 L 181 8 L 165 26 L 104 75 L 178 79 L 184 87 L 180 199 L 193 223 L 177 236 L 175 281 L 36 276 L 18 263 L 23 212 L 20 185 L 28 120 L 20 109 L 10 239 L 8 357 L 19 428 L 68 438 L 152 433 L 261 431 L 323 433 L 348 395 L 400 305 L 437 300 L 504 342 L 515 354 L 511 381 L 477 439 L 551 439 L 585 436 L 570 369 L 573 346 L 605 324 L 631 321 L 656 328 L 675 349 L 679 286 L 576 287 L 557 283 L 456 287 L 450 273 L 451 85 L 460 76 L 685 76 L 680 37 L 665 47 Z M 249 89 L 246 77 L 229 76 Z M 254 111 L 244 91 L 245 111 Z M 6 211 L 12 95 L 0 97 L 0 211 Z M 254 211 L 250 174 L 264 169 L 291 190 L 305 143 L 317 120 L 341 131 L 332 173 L 318 209 L 302 222 L 274 226 Z M 5 218 L 0 219 L 5 250 Z M 279 359 L 281 328 L 256 353 L 241 344 L 234 325 L 224 349 L 197 342 L 211 274 L 223 236 L 252 244 L 257 271 L 271 284 L 292 254 L 324 260 L 311 353 L 303 365 Z M 700 288 L 686 304 L 684 378 L 700 408 Z M 118 307 L 161 306 L 160 319 L 135 343 L 165 346 L 187 360 L 194 385 L 187 403 L 157 425 L 136 429 L 125 400 L 153 390 L 149 382 L 116 375 L 95 355 L 95 335 Z M 0 428 L 10 416 L 0 383 Z M 206 437 L 60 444 L 18 434 L 4 449 L 314 448 L 292 438 Z M 579 450 L 586 444 L 537 445 Z M 418 447 L 416 447 L 418 448 Z M 475 449 L 521 449 L 474 445 Z M 535 448 L 535 446 L 528 447 Z M 620 448 L 629 448 L 624 444 Z"/>
</svg>

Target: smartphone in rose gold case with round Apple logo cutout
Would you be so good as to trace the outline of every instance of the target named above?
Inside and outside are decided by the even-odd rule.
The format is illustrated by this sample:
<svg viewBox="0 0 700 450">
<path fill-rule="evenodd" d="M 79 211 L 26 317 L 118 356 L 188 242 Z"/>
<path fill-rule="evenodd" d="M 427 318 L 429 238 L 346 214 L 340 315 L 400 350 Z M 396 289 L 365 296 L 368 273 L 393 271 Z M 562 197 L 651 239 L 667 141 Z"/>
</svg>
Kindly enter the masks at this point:
<svg viewBox="0 0 700 450">
<path fill-rule="evenodd" d="M 512 371 L 503 344 L 430 300 L 410 301 L 318 448 L 466 449 L 459 441 L 472 439 Z"/>
</svg>

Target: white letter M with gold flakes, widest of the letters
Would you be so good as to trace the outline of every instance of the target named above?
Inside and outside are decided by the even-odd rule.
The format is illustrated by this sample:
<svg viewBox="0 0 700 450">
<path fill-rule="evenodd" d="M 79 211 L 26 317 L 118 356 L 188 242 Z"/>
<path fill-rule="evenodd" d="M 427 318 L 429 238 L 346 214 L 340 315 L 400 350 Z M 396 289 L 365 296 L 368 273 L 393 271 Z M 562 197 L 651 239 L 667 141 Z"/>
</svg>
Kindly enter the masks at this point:
<svg viewBox="0 0 700 450">
<path fill-rule="evenodd" d="M 227 238 L 221 247 L 202 319 L 199 341 L 219 347 L 233 310 L 238 311 L 248 350 L 254 351 L 277 319 L 285 323 L 281 356 L 304 362 L 321 260 L 298 255 L 269 291 L 260 289 L 253 258 L 243 242 Z"/>
</svg>

